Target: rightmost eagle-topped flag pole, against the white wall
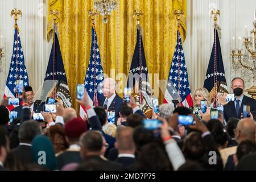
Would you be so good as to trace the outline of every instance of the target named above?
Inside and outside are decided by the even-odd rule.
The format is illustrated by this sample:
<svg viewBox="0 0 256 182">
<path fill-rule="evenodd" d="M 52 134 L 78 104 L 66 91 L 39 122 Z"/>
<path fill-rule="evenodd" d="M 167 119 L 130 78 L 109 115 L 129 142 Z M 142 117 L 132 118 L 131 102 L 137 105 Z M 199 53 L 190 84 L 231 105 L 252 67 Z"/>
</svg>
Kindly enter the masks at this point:
<svg viewBox="0 0 256 182">
<path fill-rule="evenodd" d="M 214 97 L 213 97 L 213 107 L 217 107 L 217 15 L 220 16 L 220 10 L 212 9 L 210 11 L 210 16 L 214 20 Z"/>
</svg>

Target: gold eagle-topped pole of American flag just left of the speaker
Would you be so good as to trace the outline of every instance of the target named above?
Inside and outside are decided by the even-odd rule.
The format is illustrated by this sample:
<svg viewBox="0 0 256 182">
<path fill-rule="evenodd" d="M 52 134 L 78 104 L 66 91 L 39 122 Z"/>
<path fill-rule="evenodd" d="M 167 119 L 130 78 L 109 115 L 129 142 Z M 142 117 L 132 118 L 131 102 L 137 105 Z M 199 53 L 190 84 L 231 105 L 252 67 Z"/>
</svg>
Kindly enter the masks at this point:
<svg viewBox="0 0 256 182">
<path fill-rule="evenodd" d="M 90 9 L 88 15 L 90 16 L 92 20 L 92 27 L 94 30 L 94 35 L 93 35 L 93 69 L 94 69 L 94 75 L 93 75 L 93 84 L 94 84 L 94 90 L 93 90 L 93 106 L 98 106 L 98 97 L 97 97 L 97 75 L 96 75 L 96 69 L 97 69 L 97 58 L 96 58 L 96 33 L 95 33 L 95 15 L 97 15 L 96 10 Z"/>
</svg>

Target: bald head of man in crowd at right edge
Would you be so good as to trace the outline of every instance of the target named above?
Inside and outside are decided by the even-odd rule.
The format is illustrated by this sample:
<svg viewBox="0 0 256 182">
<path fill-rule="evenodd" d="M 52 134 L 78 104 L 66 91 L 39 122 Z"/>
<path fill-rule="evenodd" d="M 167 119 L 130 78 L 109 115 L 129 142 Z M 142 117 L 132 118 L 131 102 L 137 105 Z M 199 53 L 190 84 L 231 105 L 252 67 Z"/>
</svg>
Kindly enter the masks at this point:
<svg viewBox="0 0 256 182">
<path fill-rule="evenodd" d="M 245 118 L 241 119 L 237 123 L 236 129 L 236 139 L 238 143 L 241 143 L 243 140 L 255 141 L 255 121 L 253 119 Z"/>
</svg>

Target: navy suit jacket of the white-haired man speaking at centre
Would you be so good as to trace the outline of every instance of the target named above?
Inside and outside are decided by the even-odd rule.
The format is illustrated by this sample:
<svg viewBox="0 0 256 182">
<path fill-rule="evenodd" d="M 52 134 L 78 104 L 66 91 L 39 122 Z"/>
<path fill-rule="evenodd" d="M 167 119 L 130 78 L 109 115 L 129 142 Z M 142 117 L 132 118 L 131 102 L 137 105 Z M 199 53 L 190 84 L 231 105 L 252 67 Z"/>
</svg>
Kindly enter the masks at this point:
<svg viewBox="0 0 256 182">
<path fill-rule="evenodd" d="M 98 100 L 98 105 L 100 107 L 103 107 L 105 98 L 106 97 L 101 97 Z M 117 122 L 117 119 L 120 117 L 119 116 L 119 111 L 120 111 L 120 107 L 121 107 L 122 104 L 123 104 L 123 99 L 116 94 L 115 98 L 113 99 L 113 101 L 109 105 L 108 110 L 115 110 L 115 122 Z"/>
</svg>

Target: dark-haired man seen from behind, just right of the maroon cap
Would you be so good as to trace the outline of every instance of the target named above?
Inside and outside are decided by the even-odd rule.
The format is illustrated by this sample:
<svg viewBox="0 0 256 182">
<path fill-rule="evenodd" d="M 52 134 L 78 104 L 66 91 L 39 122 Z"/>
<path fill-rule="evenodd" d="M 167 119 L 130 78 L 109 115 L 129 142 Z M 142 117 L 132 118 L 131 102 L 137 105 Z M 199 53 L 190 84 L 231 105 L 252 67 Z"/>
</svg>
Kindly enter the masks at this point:
<svg viewBox="0 0 256 182">
<path fill-rule="evenodd" d="M 90 159 L 96 160 L 102 166 L 104 171 L 121 171 L 123 170 L 122 164 L 111 162 L 104 158 L 103 154 L 106 150 L 106 141 L 101 132 L 87 131 L 82 134 L 81 139 L 81 156 L 84 161 Z"/>
</svg>

